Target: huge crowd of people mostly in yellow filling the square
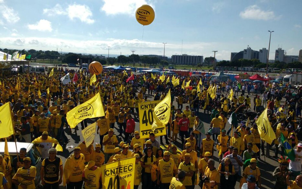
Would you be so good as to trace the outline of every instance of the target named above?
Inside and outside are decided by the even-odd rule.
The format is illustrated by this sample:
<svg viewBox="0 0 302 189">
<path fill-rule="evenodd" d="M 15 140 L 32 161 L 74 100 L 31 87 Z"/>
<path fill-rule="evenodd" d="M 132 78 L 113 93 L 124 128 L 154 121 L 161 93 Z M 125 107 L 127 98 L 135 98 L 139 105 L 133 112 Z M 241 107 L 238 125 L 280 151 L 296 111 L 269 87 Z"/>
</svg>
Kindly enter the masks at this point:
<svg viewBox="0 0 302 189">
<path fill-rule="evenodd" d="M 228 189 L 235 188 L 237 181 L 240 181 L 241 188 L 258 188 L 262 180 L 258 161 L 261 155 L 265 155 L 264 141 L 255 123 L 261 114 L 260 106 L 268 107 L 270 124 L 276 132 L 274 157 L 277 160 L 278 155 L 282 155 L 282 159 L 278 159 L 280 167 L 273 173 L 275 188 L 302 187 L 302 144 L 295 133 L 302 101 L 287 96 L 291 94 L 290 89 L 284 92 L 269 82 L 255 84 L 172 75 L 162 79 L 149 73 L 134 75 L 131 81 L 126 82 L 129 74 L 112 70 L 104 70 L 97 82 L 90 85 L 91 75 L 88 72 L 69 71 L 70 77 L 77 74 L 78 80 L 66 85 L 59 80 L 65 75 L 63 69 L 51 77 L 27 73 L 0 79 L 0 106 L 5 103 L 11 106 L 16 139 L 34 143 L 43 160 L 41 169 L 36 170 L 31 165 L 31 158 L 26 156 L 26 149 L 20 149 L 10 170 L 0 168 L 3 173 L 0 181 L 4 188 L 35 188 L 37 171 L 43 188 L 58 188 L 61 183 L 68 189 L 82 188 L 83 183 L 86 189 L 101 188 L 101 165 L 130 157 L 136 158 L 134 188 L 142 184 L 142 188 L 147 189 L 192 189 L 196 185 L 203 189 Z M 176 79 L 177 83 L 174 82 Z M 185 85 L 187 82 L 190 82 L 189 86 Z M 155 133 L 151 132 L 148 139 L 141 139 L 135 126 L 142 116 L 139 115 L 138 104 L 162 100 L 169 89 L 172 102 L 167 135 L 158 141 Z M 64 130 L 69 127 L 66 114 L 97 93 L 100 93 L 105 116 L 85 119 L 80 125 L 84 129 L 88 123 L 96 121 L 99 141 L 88 147 L 82 141 L 64 163 L 57 156 L 57 147 L 70 142 Z M 252 94 L 255 96 L 253 100 Z M 286 99 L 284 104 L 281 104 L 282 97 Z M 252 111 L 252 107 L 259 112 L 257 116 L 249 117 L 247 122 L 239 122 L 237 116 L 245 110 Z M 210 111 L 210 115 L 204 114 L 206 111 Z M 207 132 L 198 129 L 204 116 L 210 117 Z M 226 124 L 229 116 L 232 118 L 231 127 Z M 281 133 L 291 147 L 296 148 L 294 161 L 284 156 L 284 147 L 280 145 Z M 124 140 L 119 142 L 123 135 Z M 163 137 L 167 149 L 161 146 L 164 145 Z M 14 141 L 14 137 L 8 137 L 8 140 Z M 175 144 L 180 144 L 181 151 Z M 214 156 L 215 148 L 219 151 L 218 157 Z M 219 161 L 217 168 L 215 158 Z M 53 168 L 51 171 L 50 167 Z M 88 177 L 91 173 L 97 175 L 96 179 Z"/>
</svg>

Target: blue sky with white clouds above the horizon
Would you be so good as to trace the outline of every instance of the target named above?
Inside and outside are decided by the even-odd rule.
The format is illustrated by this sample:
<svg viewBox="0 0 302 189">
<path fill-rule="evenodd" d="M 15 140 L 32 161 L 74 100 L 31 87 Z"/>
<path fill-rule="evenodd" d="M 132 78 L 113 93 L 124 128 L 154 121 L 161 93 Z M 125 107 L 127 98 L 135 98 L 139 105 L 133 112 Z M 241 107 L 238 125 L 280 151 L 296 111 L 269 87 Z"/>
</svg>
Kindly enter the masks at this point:
<svg viewBox="0 0 302 189">
<path fill-rule="evenodd" d="M 146 26 L 136 9 L 150 5 Z M 0 0 L 0 48 L 130 55 L 188 54 L 230 60 L 249 45 L 302 49 L 300 0 Z"/>
</svg>

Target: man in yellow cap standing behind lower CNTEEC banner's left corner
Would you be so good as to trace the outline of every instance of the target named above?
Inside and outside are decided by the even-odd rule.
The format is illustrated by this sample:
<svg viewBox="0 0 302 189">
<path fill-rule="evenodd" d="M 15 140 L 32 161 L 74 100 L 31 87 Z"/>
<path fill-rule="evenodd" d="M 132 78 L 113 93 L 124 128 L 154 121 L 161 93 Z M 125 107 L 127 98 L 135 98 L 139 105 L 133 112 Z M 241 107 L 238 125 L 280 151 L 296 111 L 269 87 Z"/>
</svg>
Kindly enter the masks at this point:
<svg viewBox="0 0 302 189">
<path fill-rule="evenodd" d="M 117 137 L 113 134 L 113 129 L 109 129 L 108 135 L 104 136 L 103 145 L 105 146 L 105 163 L 107 163 L 109 157 L 114 153 L 115 146 L 118 145 Z"/>
</svg>

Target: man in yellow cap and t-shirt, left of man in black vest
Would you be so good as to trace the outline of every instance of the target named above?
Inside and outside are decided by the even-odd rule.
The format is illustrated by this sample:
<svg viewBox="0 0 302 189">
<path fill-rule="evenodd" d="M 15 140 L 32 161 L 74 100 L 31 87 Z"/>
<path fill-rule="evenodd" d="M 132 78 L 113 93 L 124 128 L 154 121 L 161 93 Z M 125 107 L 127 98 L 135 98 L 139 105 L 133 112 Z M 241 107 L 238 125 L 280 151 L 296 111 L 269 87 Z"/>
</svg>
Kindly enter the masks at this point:
<svg viewBox="0 0 302 189">
<path fill-rule="evenodd" d="M 31 166 L 29 157 L 23 158 L 23 167 L 18 168 L 12 178 L 12 183 L 18 185 L 18 189 L 35 189 L 36 167 Z"/>
</svg>

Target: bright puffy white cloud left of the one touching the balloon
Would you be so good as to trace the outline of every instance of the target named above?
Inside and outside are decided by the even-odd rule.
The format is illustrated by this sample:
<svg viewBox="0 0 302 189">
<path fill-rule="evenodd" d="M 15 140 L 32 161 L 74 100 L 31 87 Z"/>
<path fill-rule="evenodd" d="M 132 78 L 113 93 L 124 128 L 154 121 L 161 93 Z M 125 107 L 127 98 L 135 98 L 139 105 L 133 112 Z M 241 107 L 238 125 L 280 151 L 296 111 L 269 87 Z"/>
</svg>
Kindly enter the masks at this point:
<svg viewBox="0 0 302 189">
<path fill-rule="evenodd" d="M 80 21 L 86 22 L 87 24 L 93 24 L 95 21 L 91 19 L 92 12 L 90 8 L 86 5 L 69 5 L 67 8 L 68 17 L 73 20 L 74 18 L 79 18 Z"/>
</svg>

